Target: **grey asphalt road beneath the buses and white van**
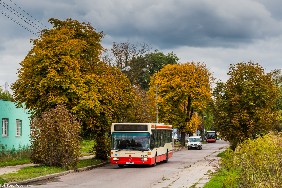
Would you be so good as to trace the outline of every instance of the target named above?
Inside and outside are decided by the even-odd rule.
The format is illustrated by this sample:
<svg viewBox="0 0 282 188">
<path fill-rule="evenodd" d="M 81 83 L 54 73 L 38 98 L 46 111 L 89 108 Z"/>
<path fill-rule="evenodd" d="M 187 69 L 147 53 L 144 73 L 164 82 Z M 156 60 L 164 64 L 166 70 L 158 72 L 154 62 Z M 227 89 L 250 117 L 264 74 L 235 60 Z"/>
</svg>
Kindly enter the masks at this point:
<svg viewBox="0 0 282 188">
<path fill-rule="evenodd" d="M 156 167 L 144 165 L 130 165 L 119 168 L 118 165 L 108 164 L 105 167 L 76 172 L 60 176 L 57 182 L 47 182 L 40 187 L 113 187 L 113 188 L 147 188 L 153 187 L 164 178 L 181 172 L 184 167 L 193 165 L 202 158 L 212 154 L 229 143 L 217 140 L 206 143 L 203 149 L 180 150 L 173 152 L 168 163 L 157 163 Z M 39 187 L 34 186 L 34 187 Z"/>
</svg>

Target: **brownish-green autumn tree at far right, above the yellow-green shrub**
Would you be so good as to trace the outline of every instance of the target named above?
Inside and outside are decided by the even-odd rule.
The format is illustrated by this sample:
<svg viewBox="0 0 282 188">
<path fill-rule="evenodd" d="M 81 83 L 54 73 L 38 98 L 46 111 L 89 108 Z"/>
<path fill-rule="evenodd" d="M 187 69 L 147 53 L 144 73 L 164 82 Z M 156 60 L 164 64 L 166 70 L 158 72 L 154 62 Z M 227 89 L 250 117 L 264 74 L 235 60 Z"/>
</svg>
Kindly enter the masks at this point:
<svg viewBox="0 0 282 188">
<path fill-rule="evenodd" d="M 270 74 L 258 63 L 231 64 L 227 73 L 230 78 L 217 81 L 214 125 L 221 136 L 233 146 L 241 138 L 250 137 L 258 131 L 269 131 L 275 122 L 276 111 L 271 110 L 277 97 L 277 87 Z"/>
</svg>

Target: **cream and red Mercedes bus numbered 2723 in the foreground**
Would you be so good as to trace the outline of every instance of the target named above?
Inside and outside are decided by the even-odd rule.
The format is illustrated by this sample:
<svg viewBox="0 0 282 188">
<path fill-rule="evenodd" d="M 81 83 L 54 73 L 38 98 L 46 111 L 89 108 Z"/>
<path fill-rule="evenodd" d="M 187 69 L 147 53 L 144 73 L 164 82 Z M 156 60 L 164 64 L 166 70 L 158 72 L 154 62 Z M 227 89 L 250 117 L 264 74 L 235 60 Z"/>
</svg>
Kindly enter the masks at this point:
<svg viewBox="0 0 282 188">
<path fill-rule="evenodd" d="M 113 123 L 111 164 L 156 166 L 172 156 L 172 126 L 162 123 Z"/>
</svg>

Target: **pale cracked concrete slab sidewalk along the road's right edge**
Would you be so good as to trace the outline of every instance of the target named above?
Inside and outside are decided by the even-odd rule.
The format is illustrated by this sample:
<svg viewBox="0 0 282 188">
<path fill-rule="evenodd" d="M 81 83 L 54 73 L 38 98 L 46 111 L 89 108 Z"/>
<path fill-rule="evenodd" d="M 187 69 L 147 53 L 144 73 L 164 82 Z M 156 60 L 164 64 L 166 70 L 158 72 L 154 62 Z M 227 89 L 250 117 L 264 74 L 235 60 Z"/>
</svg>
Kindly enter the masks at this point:
<svg viewBox="0 0 282 188">
<path fill-rule="evenodd" d="M 226 150 L 229 146 L 217 150 L 215 153 L 208 156 L 212 159 L 221 159 L 217 157 L 217 154 Z M 195 185 L 195 188 L 203 187 L 210 179 L 210 173 L 208 170 L 211 170 L 211 166 L 208 164 L 208 161 L 202 159 L 197 163 L 187 167 L 181 172 L 173 174 L 169 177 L 169 180 L 164 180 L 159 182 L 157 185 L 151 185 L 152 188 L 186 188 Z"/>
</svg>

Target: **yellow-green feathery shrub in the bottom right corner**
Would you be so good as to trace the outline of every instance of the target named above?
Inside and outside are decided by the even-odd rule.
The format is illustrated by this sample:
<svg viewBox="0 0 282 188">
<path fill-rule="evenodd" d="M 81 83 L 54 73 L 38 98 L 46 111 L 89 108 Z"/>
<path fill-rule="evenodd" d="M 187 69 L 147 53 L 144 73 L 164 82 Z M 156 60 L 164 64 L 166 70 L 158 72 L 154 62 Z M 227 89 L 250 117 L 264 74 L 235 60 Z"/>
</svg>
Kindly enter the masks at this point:
<svg viewBox="0 0 282 188">
<path fill-rule="evenodd" d="M 229 172 L 223 180 L 225 187 L 282 187 L 281 132 L 246 138 L 235 152 L 229 149 L 225 155 L 221 160 L 221 167 Z"/>
</svg>

